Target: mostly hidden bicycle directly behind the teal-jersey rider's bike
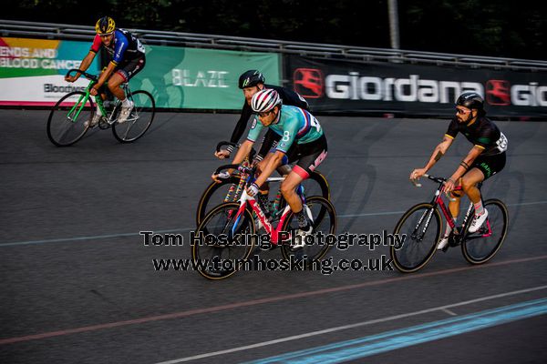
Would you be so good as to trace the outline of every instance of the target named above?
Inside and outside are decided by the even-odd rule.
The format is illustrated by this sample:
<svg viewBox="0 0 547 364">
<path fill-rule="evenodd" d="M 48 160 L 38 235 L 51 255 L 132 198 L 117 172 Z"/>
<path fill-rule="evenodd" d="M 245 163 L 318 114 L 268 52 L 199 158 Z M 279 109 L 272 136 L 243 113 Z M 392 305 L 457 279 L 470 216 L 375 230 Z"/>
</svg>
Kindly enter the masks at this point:
<svg viewBox="0 0 547 364">
<path fill-rule="evenodd" d="M 220 151 L 224 146 L 237 147 L 237 145 L 234 143 L 222 141 L 216 147 L 217 152 Z M 253 154 L 254 151 L 252 150 L 250 156 L 248 156 L 243 162 L 243 167 L 251 166 Z M 290 170 L 290 167 L 284 167 Z M 286 174 L 286 169 L 284 172 Z M 212 181 L 212 183 L 205 188 L 205 191 L 203 191 L 203 193 L 201 194 L 200 201 L 198 202 L 198 208 L 196 210 L 196 225 L 200 225 L 201 220 L 212 209 L 212 207 L 215 207 L 221 202 L 238 201 L 239 198 L 242 196 L 244 183 L 244 178 L 242 178 L 237 173 L 232 174 L 232 176 L 228 178 L 222 178 L 220 183 Z M 310 174 L 310 177 L 306 178 L 303 181 L 302 186 L 304 187 L 304 191 L 307 197 L 322 196 L 325 197 L 325 199 L 330 200 L 330 187 L 325 176 L 323 176 L 318 170 L 312 172 Z M 281 199 L 280 190 L 278 190 L 277 193 L 273 196 L 275 196 L 275 199 L 271 202 L 270 206 L 275 210 L 271 211 L 274 215 L 275 212 L 283 210 L 284 200 Z"/>
</svg>

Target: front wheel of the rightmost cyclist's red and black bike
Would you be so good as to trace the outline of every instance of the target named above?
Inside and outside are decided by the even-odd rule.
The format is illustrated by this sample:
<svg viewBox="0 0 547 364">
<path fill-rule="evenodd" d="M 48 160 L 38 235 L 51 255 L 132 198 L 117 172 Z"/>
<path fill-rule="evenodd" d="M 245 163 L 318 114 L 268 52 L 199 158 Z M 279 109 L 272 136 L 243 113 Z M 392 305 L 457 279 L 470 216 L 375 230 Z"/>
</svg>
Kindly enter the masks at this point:
<svg viewBox="0 0 547 364">
<path fill-rule="evenodd" d="M 423 203 L 410 207 L 393 232 L 403 241 L 398 249 L 390 247 L 395 267 L 403 273 L 412 273 L 428 264 L 437 251 L 440 227 L 440 213 L 433 205 Z"/>
</svg>

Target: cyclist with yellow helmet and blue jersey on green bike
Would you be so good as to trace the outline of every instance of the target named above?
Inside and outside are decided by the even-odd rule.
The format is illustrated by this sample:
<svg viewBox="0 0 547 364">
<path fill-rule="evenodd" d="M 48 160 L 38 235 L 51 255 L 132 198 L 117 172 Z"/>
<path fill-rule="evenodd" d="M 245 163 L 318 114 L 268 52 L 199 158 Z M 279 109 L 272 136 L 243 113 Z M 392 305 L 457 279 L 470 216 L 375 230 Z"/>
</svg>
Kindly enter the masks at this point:
<svg viewBox="0 0 547 364">
<path fill-rule="evenodd" d="M 146 63 L 144 46 L 135 35 L 130 34 L 125 29 L 117 29 L 116 23 L 109 16 L 98 19 L 95 31 L 97 35 L 95 35 L 93 45 L 91 45 L 88 56 L 83 59 L 79 69 L 86 71 L 101 47 L 107 51 L 110 63 L 98 77 L 98 83 L 91 88 L 90 94 L 104 100 L 106 95 L 104 91 L 100 90 L 108 81 L 108 89 L 122 102 L 118 122 L 124 123 L 133 108 L 133 103 L 126 97 L 120 85 L 129 82 L 132 76 L 137 75 L 144 68 Z M 75 76 L 66 76 L 65 80 L 74 82 L 80 75 L 80 73 L 77 73 Z M 99 91 L 100 96 L 98 96 Z M 88 120 L 86 125 L 96 126 L 102 116 L 100 109 L 97 108 L 95 116 L 92 120 Z"/>
</svg>

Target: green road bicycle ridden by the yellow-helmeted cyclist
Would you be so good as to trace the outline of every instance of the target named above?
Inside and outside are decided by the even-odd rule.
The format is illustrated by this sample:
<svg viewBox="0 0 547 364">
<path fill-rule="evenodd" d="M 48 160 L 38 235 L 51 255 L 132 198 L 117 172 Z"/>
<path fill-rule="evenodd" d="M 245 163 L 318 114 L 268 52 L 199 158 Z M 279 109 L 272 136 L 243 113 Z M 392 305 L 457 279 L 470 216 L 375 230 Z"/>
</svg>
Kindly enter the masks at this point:
<svg viewBox="0 0 547 364">
<path fill-rule="evenodd" d="M 47 137 L 57 147 L 68 147 L 80 140 L 90 127 L 86 121 L 93 119 L 96 107 L 93 98 L 89 94 L 91 87 L 97 84 L 98 76 L 76 68 L 67 72 L 79 72 L 89 80 L 88 86 L 83 91 L 73 91 L 61 97 L 53 106 L 47 119 Z M 112 133 L 121 143 L 130 143 L 139 139 L 149 129 L 156 112 L 156 102 L 149 92 L 139 90 L 131 92 L 129 84 L 121 85 L 126 96 L 133 101 L 134 106 L 128 119 L 124 123 L 118 123 L 121 102 L 102 101 L 101 97 L 95 97 L 103 117 L 98 122 L 100 129 L 112 127 Z"/>
</svg>

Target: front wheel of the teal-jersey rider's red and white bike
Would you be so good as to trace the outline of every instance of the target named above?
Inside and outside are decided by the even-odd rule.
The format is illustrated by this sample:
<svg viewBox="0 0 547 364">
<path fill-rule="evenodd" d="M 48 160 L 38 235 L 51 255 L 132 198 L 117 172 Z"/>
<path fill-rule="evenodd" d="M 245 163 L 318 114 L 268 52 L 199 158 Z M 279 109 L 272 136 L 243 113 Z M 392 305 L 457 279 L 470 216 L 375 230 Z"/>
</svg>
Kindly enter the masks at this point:
<svg viewBox="0 0 547 364">
<path fill-rule="evenodd" d="M 256 244 L 253 214 L 248 208 L 236 217 L 240 205 L 228 202 L 203 218 L 191 243 L 191 258 L 201 276 L 223 279 L 238 271 Z"/>
</svg>

